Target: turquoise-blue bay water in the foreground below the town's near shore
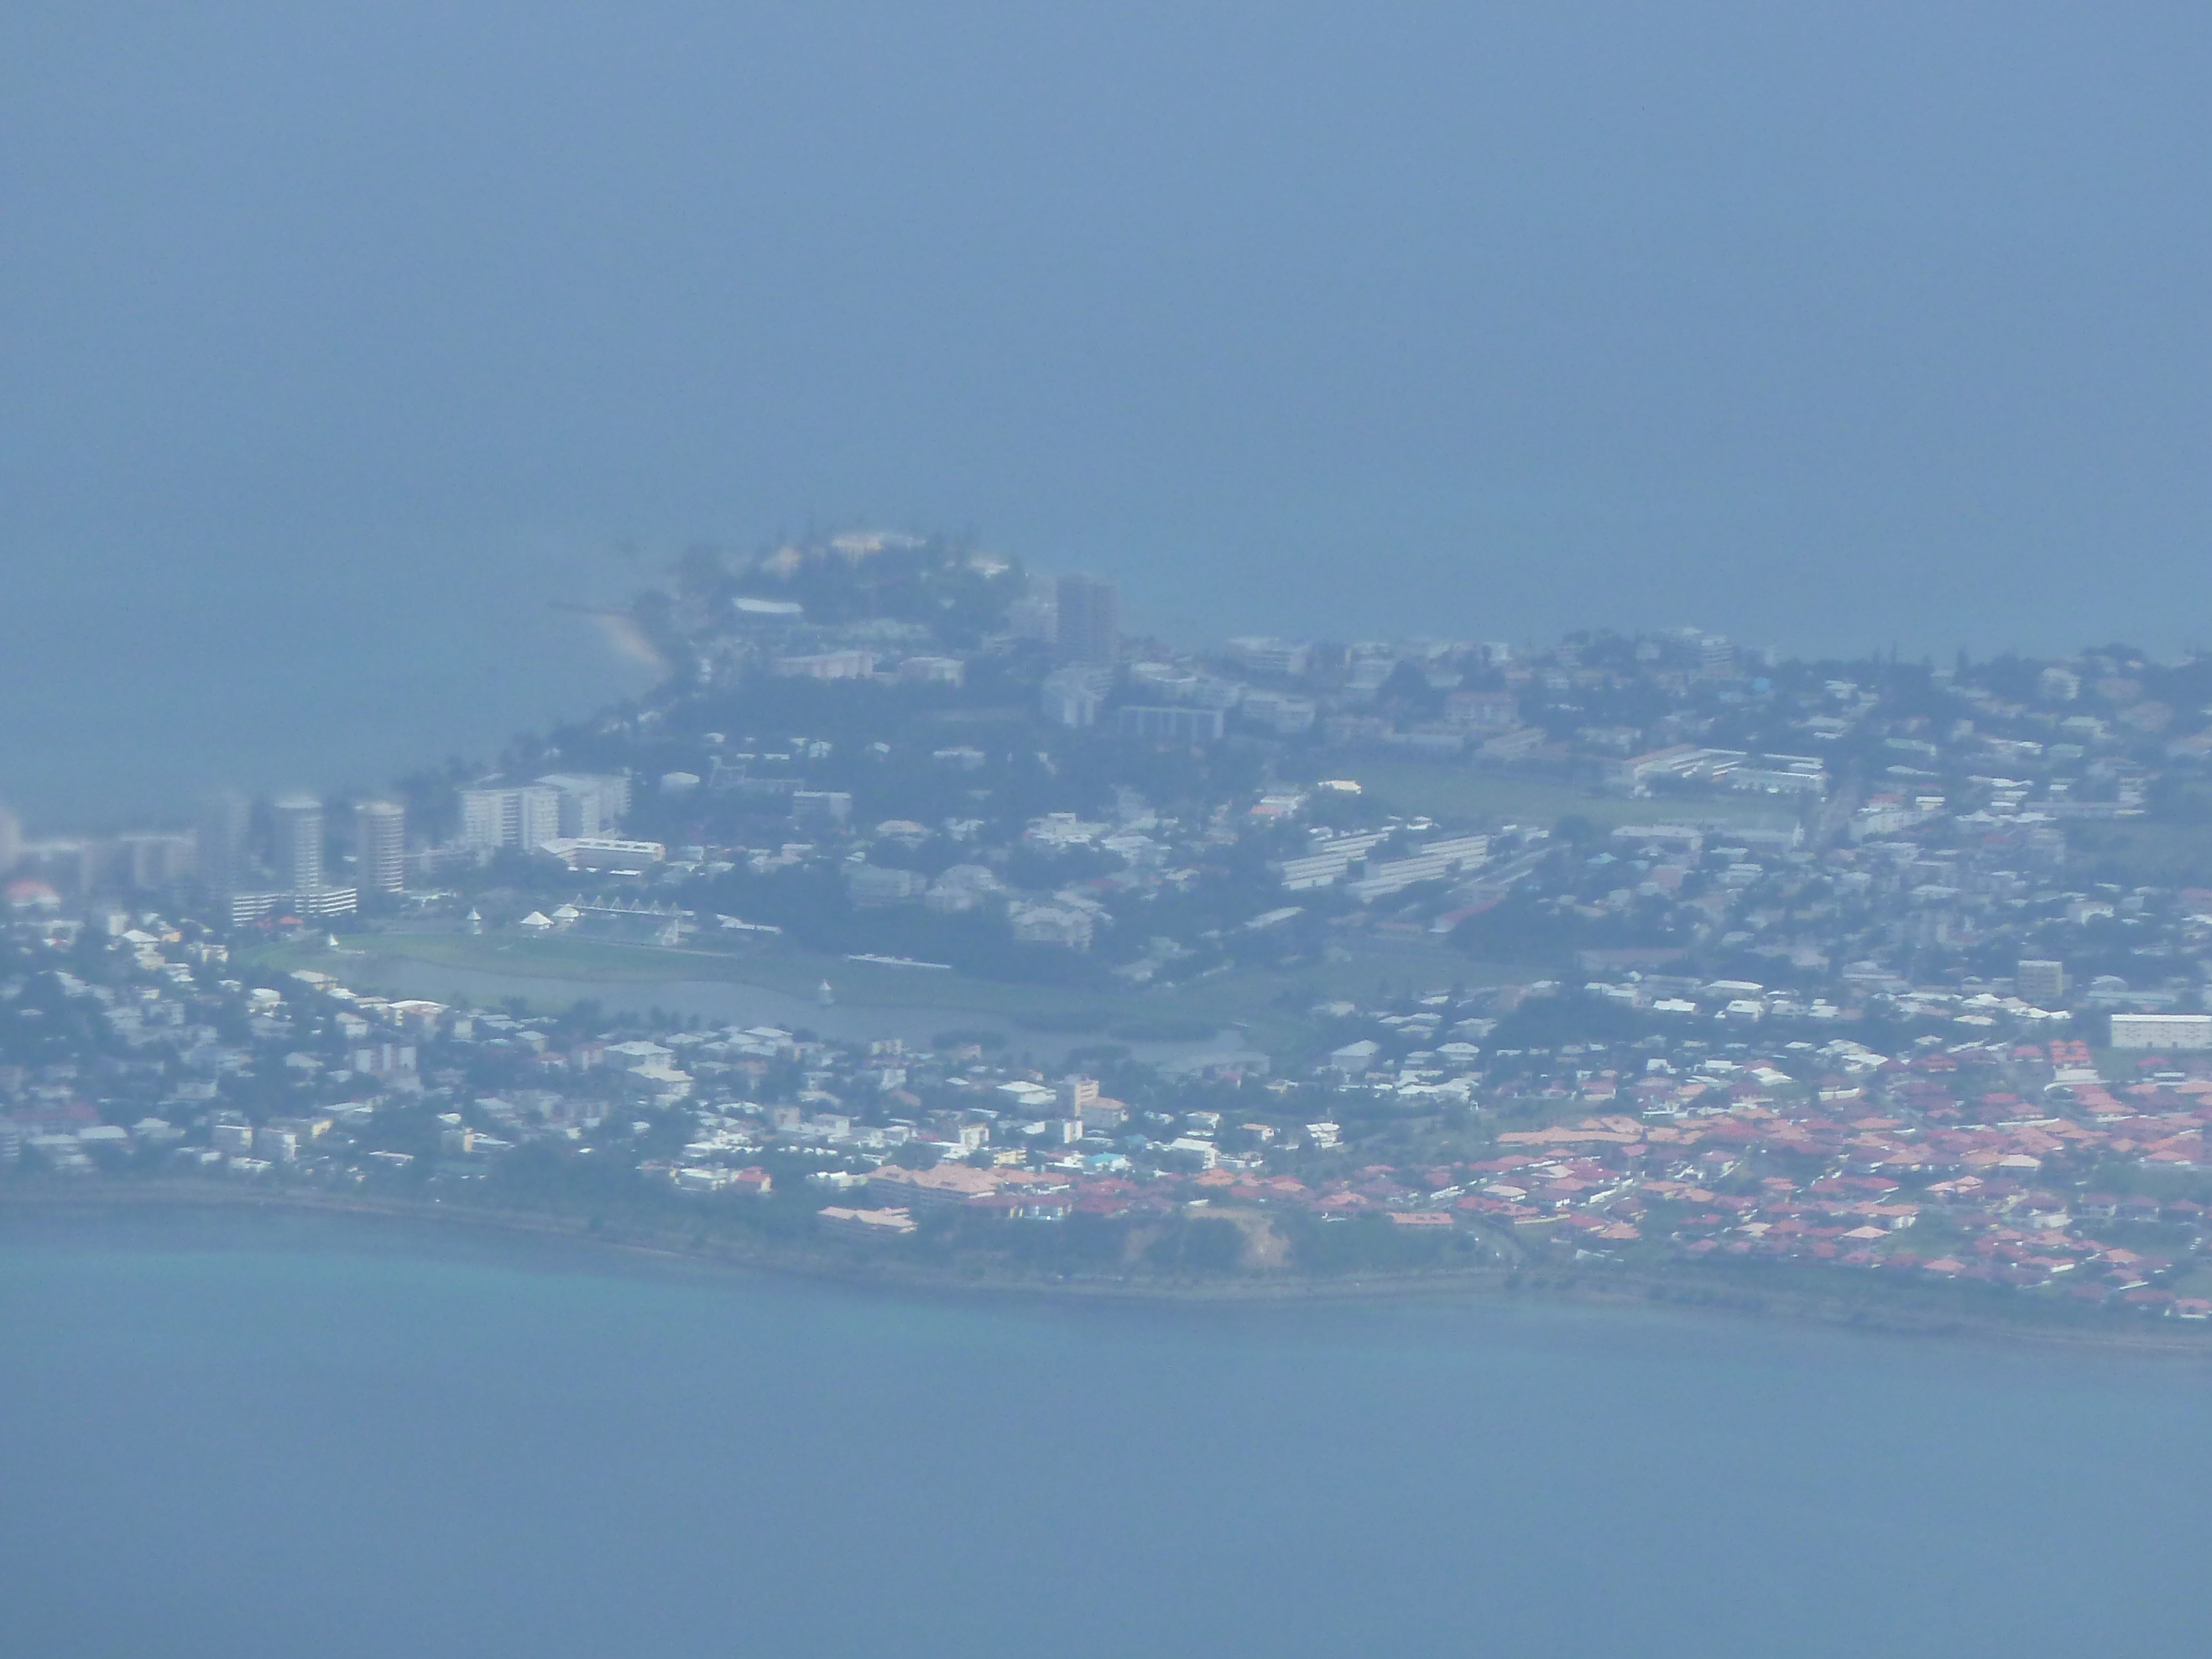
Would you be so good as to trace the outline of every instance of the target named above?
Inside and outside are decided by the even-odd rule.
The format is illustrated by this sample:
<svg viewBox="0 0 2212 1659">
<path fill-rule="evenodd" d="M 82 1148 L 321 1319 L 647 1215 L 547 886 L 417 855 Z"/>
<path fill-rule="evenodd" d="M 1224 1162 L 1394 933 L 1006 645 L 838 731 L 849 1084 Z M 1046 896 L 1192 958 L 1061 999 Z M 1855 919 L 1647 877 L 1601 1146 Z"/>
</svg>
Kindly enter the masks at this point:
<svg viewBox="0 0 2212 1659">
<path fill-rule="evenodd" d="M 0 1648 L 2194 1652 L 2205 1369 L 0 1232 Z"/>
</svg>

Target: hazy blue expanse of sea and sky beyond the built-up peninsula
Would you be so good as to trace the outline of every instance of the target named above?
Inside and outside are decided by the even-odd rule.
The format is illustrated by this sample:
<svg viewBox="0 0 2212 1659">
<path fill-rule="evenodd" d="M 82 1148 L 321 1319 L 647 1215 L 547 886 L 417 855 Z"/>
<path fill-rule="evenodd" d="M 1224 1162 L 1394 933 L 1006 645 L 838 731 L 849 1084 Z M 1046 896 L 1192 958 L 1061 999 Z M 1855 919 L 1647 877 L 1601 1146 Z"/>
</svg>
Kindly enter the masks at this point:
<svg viewBox="0 0 2212 1659">
<path fill-rule="evenodd" d="M 0 799 L 374 783 L 807 522 L 1133 628 L 2199 637 L 2181 7 L 0 20 Z"/>
</svg>

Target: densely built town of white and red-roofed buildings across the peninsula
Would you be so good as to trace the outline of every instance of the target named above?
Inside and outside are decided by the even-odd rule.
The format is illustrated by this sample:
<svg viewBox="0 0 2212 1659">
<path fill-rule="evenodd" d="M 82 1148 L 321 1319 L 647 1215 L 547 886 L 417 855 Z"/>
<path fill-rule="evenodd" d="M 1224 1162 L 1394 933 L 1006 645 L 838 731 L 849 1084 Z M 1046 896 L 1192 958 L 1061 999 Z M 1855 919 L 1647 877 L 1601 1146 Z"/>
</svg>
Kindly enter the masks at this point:
<svg viewBox="0 0 2212 1659">
<path fill-rule="evenodd" d="M 902 535 L 695 551 L 604 624 L 657 690 L 498 768 L 0 814 L 0 1194 L 2212 1316 L 2212 657 L 1192 653 Z M 595 973 L 787 1011 L 562 995 Z M 951 1013 L 869 1035 L 856 984 Z"/>
</svg>

